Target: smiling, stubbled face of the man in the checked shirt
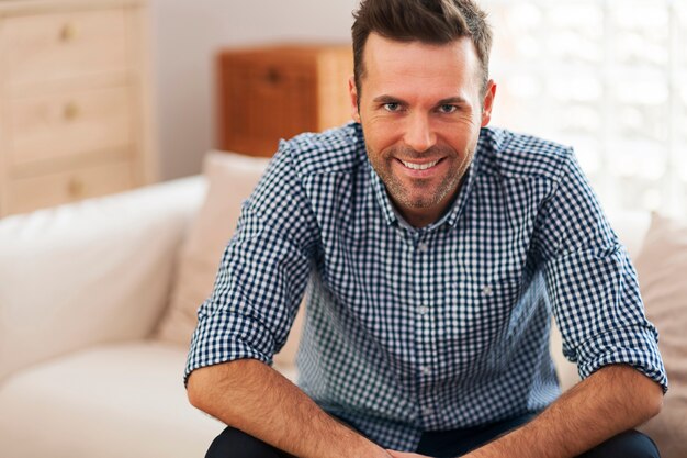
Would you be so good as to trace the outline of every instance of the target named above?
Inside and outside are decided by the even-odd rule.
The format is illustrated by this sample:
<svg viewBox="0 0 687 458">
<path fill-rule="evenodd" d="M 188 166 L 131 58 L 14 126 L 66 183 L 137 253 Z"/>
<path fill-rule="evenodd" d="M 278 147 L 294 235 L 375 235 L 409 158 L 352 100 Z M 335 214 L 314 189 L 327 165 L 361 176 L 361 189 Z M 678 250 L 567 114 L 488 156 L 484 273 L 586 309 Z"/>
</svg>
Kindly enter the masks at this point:
<svg viewBox="0 0 687 458">
<path fill-rule="evenodd" d="M 363 62 L 360 98 L 352 78 L 349 90 L 370 163 L 406 221 L 431 224 L 458 193 L 496 87 L 482 98 L 470 38 L 430 45 L 371 33 Z"/>
</svg>

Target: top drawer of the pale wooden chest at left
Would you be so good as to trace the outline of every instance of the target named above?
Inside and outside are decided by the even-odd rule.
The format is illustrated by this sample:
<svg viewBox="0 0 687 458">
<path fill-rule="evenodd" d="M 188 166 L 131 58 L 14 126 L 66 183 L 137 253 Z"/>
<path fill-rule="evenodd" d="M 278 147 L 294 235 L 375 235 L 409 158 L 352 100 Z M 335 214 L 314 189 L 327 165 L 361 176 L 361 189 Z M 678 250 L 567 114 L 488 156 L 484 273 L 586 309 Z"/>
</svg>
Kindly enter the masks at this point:
<svg viewBox="0 0 687 458">
<path fill-rule="evenodd" d="M 124 9 L 12 16 L 3 29 L 10 85 L 111 72 L 128 65 Z"/>
</svg>

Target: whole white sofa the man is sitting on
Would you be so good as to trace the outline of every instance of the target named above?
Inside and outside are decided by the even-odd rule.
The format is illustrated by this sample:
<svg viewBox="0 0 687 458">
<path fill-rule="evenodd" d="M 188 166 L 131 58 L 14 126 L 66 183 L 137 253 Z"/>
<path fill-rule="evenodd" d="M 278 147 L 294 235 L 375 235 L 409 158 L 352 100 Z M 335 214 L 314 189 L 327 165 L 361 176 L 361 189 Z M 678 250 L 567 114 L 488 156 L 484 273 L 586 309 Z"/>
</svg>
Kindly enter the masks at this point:
<svg viewBox="0 0 687 458">
<path fill-rule="evenodd" d="M 223 425 L 187 401 L 187 347 L 150 336 L 206 188 L 198 176 L 0 220 L 0 456 L 203 456 Z M 649 214 L 611 220 L 635 253 Z"/>
</svg>

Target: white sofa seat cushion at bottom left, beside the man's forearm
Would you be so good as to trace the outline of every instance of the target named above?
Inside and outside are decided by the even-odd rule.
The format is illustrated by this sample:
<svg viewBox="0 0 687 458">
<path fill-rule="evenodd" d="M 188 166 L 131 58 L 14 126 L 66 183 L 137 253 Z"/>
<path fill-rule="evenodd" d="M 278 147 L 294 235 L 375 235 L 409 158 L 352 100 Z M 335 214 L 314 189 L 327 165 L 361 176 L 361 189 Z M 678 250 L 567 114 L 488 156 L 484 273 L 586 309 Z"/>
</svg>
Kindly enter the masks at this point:
<svg viewBox="0 0 687 458">
<path fill-rule="evenodd" d="M 187 401 L 184 359 L 184 348 L 142 340 L 77 351 L 8 378 L 0 386 L 2 456 L 204 456 L 225 425 Z"/>
</svg>

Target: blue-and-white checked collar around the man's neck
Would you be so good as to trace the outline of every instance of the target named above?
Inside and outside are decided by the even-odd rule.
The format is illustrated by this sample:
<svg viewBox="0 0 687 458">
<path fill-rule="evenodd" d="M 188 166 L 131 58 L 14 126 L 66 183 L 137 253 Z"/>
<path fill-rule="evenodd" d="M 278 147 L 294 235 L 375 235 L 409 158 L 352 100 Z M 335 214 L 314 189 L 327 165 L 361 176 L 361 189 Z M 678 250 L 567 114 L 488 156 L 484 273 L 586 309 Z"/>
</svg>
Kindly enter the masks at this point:
<svg viewBox="0 0 687 458">
<path fill-rule="evenodd" d="M 468 171 L 465 172 L 465 177 L 463 178 L 461 188 L 458 191 L 458 197 L 451 204 L 451 209 L 447 213 L 444 213 L 443 216 L 439 219 L 439 221 L 425 227 L 425 230 L 430 231 L 432 228 L 440 227 L 443 224 L 454 227 L 458 224 L 458 219 L 460 217 L 460 215 L 463 212 L 463 209 L 465 208 L 465 203 L 468 202 L 468 198 L 471 193 L 472 188 L 474 187 L 476 176 L 478 175 L 477 171 L 478 171 L 480 157 L 482 156 L 480 154 L 480 150 L 482 149 L 482 143 L 483 143 L 482 136 L 480 136 L 480 141 L 477 142 L 477 147 L 475 148 L 475 154 L 472 158 L 472 164 L 470 164 L 470 166 L 468 167 Z M 365 156 L 367 156 L 367 152 L 365 152 Z M 370 164 L 369 159 L 367 160 L 367 164 L 368 164 L 368 168 L 370 169 L 372 189 L 374 191 L 376 201 L 380 208 L 382 209 L 382 214 L 384 215 L 384 220 L 386 221 L 386 224 L 393 225 L 393 224 L 403 223 L 403 225 L 409 226 L 408 223 L 406 223 L 405 221 L 402 221 L 402 216 L 394 209 L 388 198 L 388 193 L 386 192 L 386 187 L 384 186 L 384 182 L 382 181 L 380 176 L 376 174 L 376 171 L 372 167 L 372 164 Z"/>
</svg>

